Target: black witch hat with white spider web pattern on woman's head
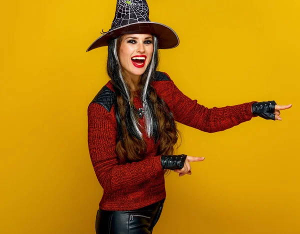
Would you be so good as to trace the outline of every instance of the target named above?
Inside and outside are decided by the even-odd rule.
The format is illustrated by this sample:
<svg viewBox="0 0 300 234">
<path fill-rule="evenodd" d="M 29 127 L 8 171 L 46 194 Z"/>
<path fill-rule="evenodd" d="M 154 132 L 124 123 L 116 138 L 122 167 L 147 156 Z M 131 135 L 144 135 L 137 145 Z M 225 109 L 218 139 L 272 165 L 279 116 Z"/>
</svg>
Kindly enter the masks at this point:
<svg viewBox="0 0 300 234">
<path fill-rule="evenodd" d="M 104 34 L 103 34 L 103 33 Z M 149 7 L 146 0 L 117 0 L 111 28 L 89 45 L 86 52 L 108 45 L 109 40 L 127 33 L 153 34 L 158 39 L 158 48 L 174 48 L 179 44 L 176 32 L 158 22 L 149 19 Z"/>
</svg>

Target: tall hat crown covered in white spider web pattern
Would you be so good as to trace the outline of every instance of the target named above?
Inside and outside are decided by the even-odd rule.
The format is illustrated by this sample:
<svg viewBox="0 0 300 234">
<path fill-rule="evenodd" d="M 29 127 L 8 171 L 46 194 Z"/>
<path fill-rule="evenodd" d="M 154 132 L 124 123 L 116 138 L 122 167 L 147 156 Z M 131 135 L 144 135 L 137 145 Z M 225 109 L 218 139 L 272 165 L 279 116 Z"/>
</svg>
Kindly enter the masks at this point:
<svg viewBox="0 0 300 234">
<path fill-rule="evenodd" d="M 110 30 L 129 23 L 144 21 L 150 21 L 149 7 L 145 0 L 119 0 Z"/>
</svg>

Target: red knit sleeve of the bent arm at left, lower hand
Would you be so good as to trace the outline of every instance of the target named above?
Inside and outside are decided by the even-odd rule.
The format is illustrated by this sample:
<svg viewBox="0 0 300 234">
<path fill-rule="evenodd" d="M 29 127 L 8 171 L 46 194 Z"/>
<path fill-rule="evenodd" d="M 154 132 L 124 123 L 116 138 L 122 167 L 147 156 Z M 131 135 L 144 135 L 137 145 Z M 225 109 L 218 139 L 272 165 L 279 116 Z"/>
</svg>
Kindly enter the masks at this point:
<svg viewBox="0 0 300 234">
<path fill-rule="evenodd" d="M 100 185 L 108 193 L 126 190 L 162 171 L 159 156 L 147 156 L 138 162 L 119 164 L 115 154 L 116 129 L 112 114 L 102 105 L 90 103 L 87 116 L 90 159 Z"/>
</svg>

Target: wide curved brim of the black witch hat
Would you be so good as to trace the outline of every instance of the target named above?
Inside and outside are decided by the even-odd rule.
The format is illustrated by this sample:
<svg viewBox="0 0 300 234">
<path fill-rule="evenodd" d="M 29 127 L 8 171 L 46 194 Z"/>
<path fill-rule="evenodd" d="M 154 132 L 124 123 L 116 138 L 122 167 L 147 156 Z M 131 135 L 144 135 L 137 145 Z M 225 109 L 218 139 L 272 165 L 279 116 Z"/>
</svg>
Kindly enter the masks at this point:
<svg viewBox="0 0 300 234">
<path fill-rule="evenodd" d="M 129 33 L 155 35 L 158 39 L 158 48 L 160 49 L 174 48 L 179 44 L 179 38 L 172 28 L 157 22 L 136 22 L 120 26 L 106 32 L 92 42 L 91 45 L 89 45 L 89 47 L 86 49 L 86 52 L 94 48 L 106 46 L 108 45 L 109 40 Z"/>
</svg>

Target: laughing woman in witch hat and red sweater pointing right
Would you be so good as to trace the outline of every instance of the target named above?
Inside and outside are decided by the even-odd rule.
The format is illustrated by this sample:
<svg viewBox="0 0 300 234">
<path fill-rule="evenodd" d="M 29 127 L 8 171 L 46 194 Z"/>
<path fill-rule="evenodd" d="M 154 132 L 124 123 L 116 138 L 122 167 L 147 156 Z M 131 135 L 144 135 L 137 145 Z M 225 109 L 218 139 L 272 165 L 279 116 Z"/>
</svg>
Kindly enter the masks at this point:
<svg viewBox="0 0 300 234">
<path fill-rule="evenodd" d="M 118 0 L 111 28 L 87 49 L 108 45 L 111 79 L 88 106 L 89 152 L 103 187 L 96 233 L 152 233 L 167 169 L 191 174 L 189 162 L 204 159 L 172 155 L 178 138 L 174 121 L 216 132 L 257 115 L 279 117 L 281 106 L 274 101 L 209 109 L 185 96 L 167 73 L 156 71 L 157 49 L 177 46 L 178 37 L 150 22 L 148 13 L 145 0 Z"/>
</svg>

